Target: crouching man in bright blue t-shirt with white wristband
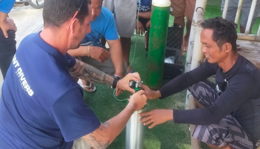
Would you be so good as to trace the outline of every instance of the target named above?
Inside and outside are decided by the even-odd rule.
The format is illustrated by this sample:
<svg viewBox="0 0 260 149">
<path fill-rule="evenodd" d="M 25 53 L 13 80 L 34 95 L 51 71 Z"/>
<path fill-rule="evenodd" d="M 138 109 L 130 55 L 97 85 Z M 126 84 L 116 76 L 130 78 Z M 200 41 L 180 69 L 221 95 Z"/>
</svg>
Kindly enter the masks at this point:
<svg viewBox="0 0 260 149">
<path fill-rule="evenodd" d="M 102 7 L 103 0 L 92 0 L 91 32 L 85 35 L 78 49 L 68 53 L 95 68 L 107 73 L 123 77 L 126 75 L 126 64 L 123 63 L 123 52 L 117 33 L 113 14 Z M 110 49 L 104 49 L 102 39 L 105 37 Z M 88 92 L 96 90 L 93 83 L 82 79 L 82 87 Z M 120 91 L 117 89 L 116 94 Z"/>
</svg>

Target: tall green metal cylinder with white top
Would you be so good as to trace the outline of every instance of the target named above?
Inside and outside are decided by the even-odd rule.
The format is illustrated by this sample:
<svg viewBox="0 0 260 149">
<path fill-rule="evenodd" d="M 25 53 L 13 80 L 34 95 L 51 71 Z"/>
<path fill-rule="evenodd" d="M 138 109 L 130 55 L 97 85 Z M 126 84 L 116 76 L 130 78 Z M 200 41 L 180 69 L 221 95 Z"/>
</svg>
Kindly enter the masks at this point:
<svg viewBox="0 0 260 149">
<path fill-rule="evenodd" d="M 162 85 L 165 48 L 171 1 L 153 0 L 147 58 L 147 84 L 151 89 Z"/>
</svg>

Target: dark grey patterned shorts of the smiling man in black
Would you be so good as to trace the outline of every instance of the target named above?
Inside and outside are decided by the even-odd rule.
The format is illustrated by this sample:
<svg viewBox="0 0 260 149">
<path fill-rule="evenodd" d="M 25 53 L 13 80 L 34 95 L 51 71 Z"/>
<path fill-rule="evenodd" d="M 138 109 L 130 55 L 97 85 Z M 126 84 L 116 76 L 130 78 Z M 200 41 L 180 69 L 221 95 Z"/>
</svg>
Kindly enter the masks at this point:
<svg viewBox="0 0 260 149">
<path fill-rule="evenodd" d="M 218 98 L 215 84 L 209 80 L 199 82 L 189 87 L 195 99 L 204 107 L 209 107 Z M 239 122 L 231 115 L 221 119 L 218 124 L 196 125 L 192 136 L 202 142 L 217 146 L 229 145 L 235 149 L 253 148 L 249 134 L 244 131 Z"/>
</svg>

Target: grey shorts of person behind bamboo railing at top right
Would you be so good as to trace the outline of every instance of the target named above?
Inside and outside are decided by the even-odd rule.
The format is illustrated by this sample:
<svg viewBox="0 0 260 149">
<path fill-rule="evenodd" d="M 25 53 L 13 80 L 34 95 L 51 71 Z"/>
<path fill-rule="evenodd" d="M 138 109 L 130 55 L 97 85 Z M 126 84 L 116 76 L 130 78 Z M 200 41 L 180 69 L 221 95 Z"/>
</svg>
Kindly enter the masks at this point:
<svg viewBox="0 0 260 149">
<path fill-rule="evenodd" d="M 223 12 L 224 4 L 225 4 L 225 0 L 222 0 L 221 12 Z M 242 4 L 242 8 L 241 8 L 242 17 L 241 17 L 241 22 L 240 22 L 241 26 L 243 26 L 243 27 L 247 26 L 247 19 L 248 19 L 248 16 L 249 16 L 251 4 L 252 4 L 252 0 L 243 0 L 243 4 Z M 227 20 L 235 21 L 235 15 L 236 15 L 236 12 L 237 12 L 237 7 L 238 7 L 238 0 L 229 0 L 228 8 L 227 8 L 227 17 L 226 17 Z M 253 15 L 251 27 L 253 26 L 257 17 L 260 14 L 259 7 L 260 7 L 260 1 L 258 0 L 256 2 L 256 9 L 255 9 L 255 13 Z"/>
</svg>

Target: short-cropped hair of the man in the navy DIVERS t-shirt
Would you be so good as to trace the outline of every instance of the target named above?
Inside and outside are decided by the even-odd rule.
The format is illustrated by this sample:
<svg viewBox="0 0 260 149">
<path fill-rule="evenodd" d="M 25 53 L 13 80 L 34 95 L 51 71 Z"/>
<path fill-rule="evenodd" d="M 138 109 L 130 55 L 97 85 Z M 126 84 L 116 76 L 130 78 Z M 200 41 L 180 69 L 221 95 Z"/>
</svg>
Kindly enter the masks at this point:
<svg viewBox="0 0 260 149">
<path fill-rule="evenodd" d="M 42 12 L 44 26 L 60 27 L 73 17 L 81 3 L 82 0 L 45 0 Z M 76 16 L 81 24 L 83 24 L 85 17 L 89 15 L 89 4 L 91 4 L 91 0 L 84 0 Z"/>
</svg>

